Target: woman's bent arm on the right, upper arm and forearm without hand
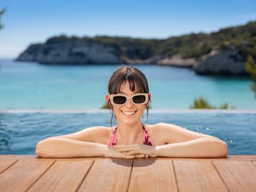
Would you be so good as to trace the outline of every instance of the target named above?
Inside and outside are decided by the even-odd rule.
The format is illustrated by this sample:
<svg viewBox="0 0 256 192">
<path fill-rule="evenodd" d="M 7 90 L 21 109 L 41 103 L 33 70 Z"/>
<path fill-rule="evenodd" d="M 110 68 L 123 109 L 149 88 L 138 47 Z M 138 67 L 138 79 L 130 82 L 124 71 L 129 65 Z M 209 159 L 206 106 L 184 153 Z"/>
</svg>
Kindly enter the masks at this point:
<svg viewBox="0 0 256 192">
<path fill-rule="evenodd" d="M 156 146 L 157 156 L 223 157 L 228 146 L 216 137 L 183 129 L 175 124 L 157 124 L 155 134 L 166 141 Z"/>
</svg>

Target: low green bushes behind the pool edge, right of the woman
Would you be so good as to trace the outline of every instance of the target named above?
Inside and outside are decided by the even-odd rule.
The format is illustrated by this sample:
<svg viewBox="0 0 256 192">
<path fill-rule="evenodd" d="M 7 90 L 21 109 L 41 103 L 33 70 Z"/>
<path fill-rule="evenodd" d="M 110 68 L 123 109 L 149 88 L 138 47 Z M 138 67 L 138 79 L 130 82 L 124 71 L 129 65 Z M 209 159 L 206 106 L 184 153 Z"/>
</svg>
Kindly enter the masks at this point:
<svg viewBox="0 0 256 192">
<path fill-rule="evenodd" d="M 194 100 L 193 105 L 189 107 L 190 109 L 221 109 L 221 110 L 227 110 L 228 109 L 228 103 L 223 103 L 220 105 L 220 107 L 215 107 L 213 105 L 210 105 L 206 99 L 203 97 L 199 97 L 196 100 Z M 235 109 L 235 107 L 231 107 L 231 109 Z"/>
</svg>

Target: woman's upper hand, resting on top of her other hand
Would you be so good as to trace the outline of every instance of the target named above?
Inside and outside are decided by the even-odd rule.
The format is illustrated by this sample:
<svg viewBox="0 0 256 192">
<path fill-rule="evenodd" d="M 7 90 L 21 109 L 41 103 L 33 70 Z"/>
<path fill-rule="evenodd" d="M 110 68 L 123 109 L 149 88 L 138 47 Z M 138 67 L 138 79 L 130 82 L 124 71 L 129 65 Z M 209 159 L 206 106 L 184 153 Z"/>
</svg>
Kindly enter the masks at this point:
<svg viewBox="0 0 256 192">
<path fill-rule="evenodd" d="M 154 146 L 146 144 L 132 144 L 132 145 L 114 145 L 113 148 L 124 154 L 125 156 L 143 156 L 143 157 L 156 157 L 156 150 Z M 143 158 L 140 157 L 140 158 Z"/>
</svg>

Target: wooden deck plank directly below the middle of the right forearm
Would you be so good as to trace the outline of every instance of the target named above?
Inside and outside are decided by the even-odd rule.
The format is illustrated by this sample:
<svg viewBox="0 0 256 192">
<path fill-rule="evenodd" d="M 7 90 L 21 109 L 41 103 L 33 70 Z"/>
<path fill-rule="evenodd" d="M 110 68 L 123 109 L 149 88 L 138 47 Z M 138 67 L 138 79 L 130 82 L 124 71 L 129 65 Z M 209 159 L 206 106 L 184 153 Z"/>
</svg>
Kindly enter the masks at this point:
<svg viewBox="0 0 256 192">
<path fill-rule="evenodd" d="M 228 191 L 209 160 L 174 161 L 178 191 Z"/>
</svg>

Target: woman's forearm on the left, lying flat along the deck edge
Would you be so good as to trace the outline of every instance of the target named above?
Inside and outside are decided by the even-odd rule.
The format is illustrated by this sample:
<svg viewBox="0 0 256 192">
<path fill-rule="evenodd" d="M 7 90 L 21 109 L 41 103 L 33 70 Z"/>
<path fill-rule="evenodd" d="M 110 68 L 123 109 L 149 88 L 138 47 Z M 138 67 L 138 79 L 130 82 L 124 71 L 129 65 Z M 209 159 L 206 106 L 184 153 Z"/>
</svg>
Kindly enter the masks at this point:
<svg viewBox="0 0 256 192">
<path fill-rule="evenodd" d="M 42 157 L 88 157 L 105 156 L 107 145 L 92 142 L 81 142 L 74 139 L 53 137 L 39 142 L 36 154 Z"/>
</svg>

